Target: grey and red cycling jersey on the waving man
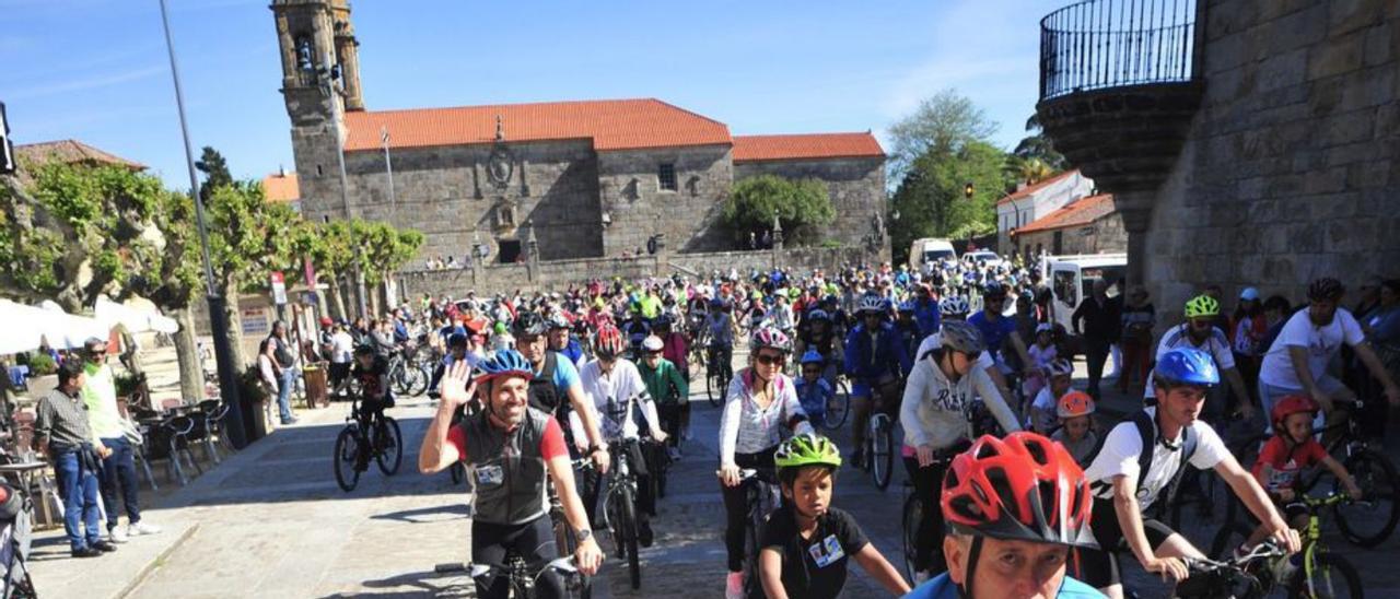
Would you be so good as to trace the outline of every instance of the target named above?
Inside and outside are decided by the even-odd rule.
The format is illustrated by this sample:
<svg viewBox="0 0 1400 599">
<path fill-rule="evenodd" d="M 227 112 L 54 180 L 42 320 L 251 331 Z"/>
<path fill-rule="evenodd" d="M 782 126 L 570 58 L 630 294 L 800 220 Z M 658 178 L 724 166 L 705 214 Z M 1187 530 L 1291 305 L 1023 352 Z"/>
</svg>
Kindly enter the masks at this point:
<svg viewBox="0 0 1400 599">
<path fill-rule="evenodd" d="M 487 410 L 468 416 L 448 431 L 476 481 L 475 522 L 514 525 L 545 515 L 545 462 L 568 456 L 559 423 L 529 409 L 512 431 L 490 423 Z"/>
</svg>

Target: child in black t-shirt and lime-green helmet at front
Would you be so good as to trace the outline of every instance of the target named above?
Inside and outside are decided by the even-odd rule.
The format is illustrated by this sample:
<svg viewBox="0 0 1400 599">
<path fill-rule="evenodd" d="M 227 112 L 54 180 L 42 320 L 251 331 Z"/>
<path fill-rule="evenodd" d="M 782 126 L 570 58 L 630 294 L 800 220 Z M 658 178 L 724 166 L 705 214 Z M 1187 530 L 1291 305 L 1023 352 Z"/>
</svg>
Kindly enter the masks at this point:
<svg viewBox="0 0 1400 599">
<path fill-rule="evenodd" d="M 836 598 L 846 586 L 847 558 L 893 595 L 909 584 L 861 532 L 855 518 L 832 507 L 841 453 L 826 437 L 805 434 L 783 442 L 773 456 L 781 508 L 759 537 L 759 579 L 769 599 Z"/>
</svg>

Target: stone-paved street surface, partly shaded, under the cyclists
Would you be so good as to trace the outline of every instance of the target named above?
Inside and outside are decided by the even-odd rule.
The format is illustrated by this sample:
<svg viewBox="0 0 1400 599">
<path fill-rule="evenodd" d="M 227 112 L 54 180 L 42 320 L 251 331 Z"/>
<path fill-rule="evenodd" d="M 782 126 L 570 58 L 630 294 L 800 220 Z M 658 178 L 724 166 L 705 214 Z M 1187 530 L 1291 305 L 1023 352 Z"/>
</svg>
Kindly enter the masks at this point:
<svg viewBox="0 0 1400 599">
<path fill-rule="evenodd" d="M 657 542 L 643 550 L 641 591 L 630 589 L 626 568 L 612 560 L 596 581 L 595 596 L 679 599 L 722 592 L 722 505 L 713 474 L 718 410 L 706 402 L 703 388 L 693 402 L 693 438 L 661 502 Z M 1106 411 L 1130 406 L 1126 399 L 1110 399 Z M 336 487 L 329 458 L 349 406 L 304 411 L 301 424 L 253 444 L 189 487 L 162 481 L 147 512 L 150 522 L 165 528 L 160 536 L 137 537 L 116 554 L 78 561 L 66 557 L 59 532 L 41 535 L 34 563 L 39 589 L 59 598 L 469 596 L 463 577 L 434 571 L 437 564 L 469 558 L 469 521 L 465 487 L 452 487 L 447 474 L 424 477 L 414 469 L 431 410 L 426 402 L 403 402 L 392 410 L 407 445 L 399 474 L 384 477 L 371 467 L 349 494 Z M 848 446 L 848 431 L 847 424 L 836 434 L 843 446 Z M 902 564 L 902 480 L 896 466 L 895 483 L 879 491 L 868 474 L 846 469 L 836 497 L 836 505 L 854 514 L 896 565 Z M 1200 521 L 1187 533 L 1208 540 L 1215 528 Z M 1400 572 L 1393 568 L 1400 540 L 1393 536 L 1375 550 L 1330 540 L 1362 571 L 1368 596 L 1400 596 Z M 1137 565 L 1128 571 L 1144 598 L 1162 596 L 1159 582 Z M 882 595 L 864 572 L 854 571 L 847 596 Z"/>
</svg>

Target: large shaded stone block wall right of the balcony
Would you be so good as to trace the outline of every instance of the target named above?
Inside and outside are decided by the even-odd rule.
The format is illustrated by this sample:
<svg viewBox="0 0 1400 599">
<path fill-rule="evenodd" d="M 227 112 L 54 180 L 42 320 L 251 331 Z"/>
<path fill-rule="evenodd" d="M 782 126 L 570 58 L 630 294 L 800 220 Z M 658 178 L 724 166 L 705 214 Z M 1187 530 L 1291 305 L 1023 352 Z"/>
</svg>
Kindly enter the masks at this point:
<svg viewBox="0 0 1400 599">
<path fill-rule="evenodd" d="M 1400 3 L 1211 0 L 1200 22 L 1205 97 L 1147 234 L 1158 305 L 1393 276 Z"/>
</svg>

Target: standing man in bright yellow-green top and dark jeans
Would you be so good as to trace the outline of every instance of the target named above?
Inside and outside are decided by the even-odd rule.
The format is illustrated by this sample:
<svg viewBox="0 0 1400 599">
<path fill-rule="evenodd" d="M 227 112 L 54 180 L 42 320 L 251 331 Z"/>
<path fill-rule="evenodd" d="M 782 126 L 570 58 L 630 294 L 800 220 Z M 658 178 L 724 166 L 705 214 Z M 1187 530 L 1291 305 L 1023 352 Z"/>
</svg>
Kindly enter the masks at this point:
<svg viewBox="0 0 1400 599">
<path fill-rule="evenodd" d="M 136 480 L 136 456 L 132 444 L 126 441 L 122 427 L 122 413 L 116 407 L 116 381 L 112 367 L 106 364 L 106 341 L 88 339 L 83 343 L 83 386 L 81 397 L 87 407 L 88 428 L 102 446 L 108 449 L 98 470 L 102 490 L 102 505 L 106 507 L 106 530 L 112 543 L 126 543 L 129 536 L 155 535 L 160 528 L 141 522 L 140 498 Z M 118 502 L 116 486 L 122 486 L 122 501 Z M 122 505 L 126 505 L 127 526 L 119 526 Z"/>
</svg>

